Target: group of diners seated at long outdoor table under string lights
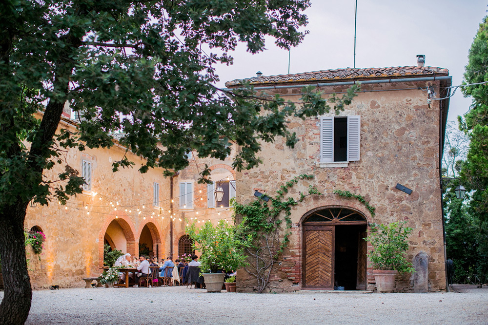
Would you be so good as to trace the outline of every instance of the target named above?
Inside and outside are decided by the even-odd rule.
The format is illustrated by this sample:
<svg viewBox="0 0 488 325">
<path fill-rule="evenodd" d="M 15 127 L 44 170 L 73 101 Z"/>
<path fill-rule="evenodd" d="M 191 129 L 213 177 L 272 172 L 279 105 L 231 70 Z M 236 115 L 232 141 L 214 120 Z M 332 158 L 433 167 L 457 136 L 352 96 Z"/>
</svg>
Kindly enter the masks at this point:
<svg viewBox="0 0 488 325">
<path fill-rule="evenodd" d="M 159 277 L 162 277 L 162 278 L 167 278 L 167 279 L 171 279 L 173 278 L 173 268 L 177 268 L 178 269 L 178 274 L 180 276 L 185 277 L 185 274 L 183 272 L 183 270 L 185 269 L 185 267 L 200 267 L 200 262 L 198 262 L 198 256 L 197 255 L 192 255 L 191 256 L 191 261 L 189 263 L 186 262 L 186 259 L 182 258 L 181 260 L 180 259 L 177 259 L 175 260 L 175 263 L 173 263 L 173 256 L 168 256 L 166 257 L 166 260 L 164 261 L 164 263 L 160 266 L 159 263 L 158 263 L 158 257 L 157 256 L 154 256 L 152 258 L 147 258 L 146 256 L 144 255 L 141 255 L 139 256 L 139 260 L 137 260 L 136 258 L 134 258 L 134 260 L 131 260 L 131 255 L 130 253 L 126 253 L 122 256 L 120 256 L 116 261 L 115 261 L 115 264 L 114 266 L 115 267 L 125 267 L 125 268 L 135 268 L 137 271 L 135 272 L 136 274 L 136 278 L 134 281 L 136 283 L 136 286 L 137 284 L 140 284 L 140 280 L 142 278 L 147 278 L 149 276 L 151 276 L 152 274 L 152 270 L 151 269 L 155 269 L 157 267 L 159 267 Z M 134 274 L 133 272 L 128 272 L 128 275 L 129 275 L 129 282 L 132 282 L 131 279 L 133 280 L 134 279 Z M 119 283 L 125 283 L 125 273 L 124 272 L 119 272 L 119 277 L 120 277 L 120 281 Z M 183 280 L 182 279 L 182 280 Z M 180 283 L 183 283 L 184 281 L 181 281 Z M 172 283 L 171 282 L 168 282 L 168 283 Z M 163 285 L 165 286 L 165 285 Z"/>
</svg>

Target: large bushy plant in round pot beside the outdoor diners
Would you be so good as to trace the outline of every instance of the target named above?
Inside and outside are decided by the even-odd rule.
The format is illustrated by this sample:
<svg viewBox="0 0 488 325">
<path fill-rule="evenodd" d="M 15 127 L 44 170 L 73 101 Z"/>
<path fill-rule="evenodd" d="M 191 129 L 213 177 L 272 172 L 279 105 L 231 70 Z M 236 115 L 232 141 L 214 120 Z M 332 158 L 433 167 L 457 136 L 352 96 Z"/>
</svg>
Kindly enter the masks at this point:
<svg viewBox="0 0 488 325">
<path fill-rule="evenodd" d="M 207 221 L 197 229 L 195 222 L 186 227 L 200 256 L 200 270 L 207 292 L 221 292 L 225 271 L 235 271 L 245 264 L 244 246 L 236 235 L 236 226 L 220 220 L 217 226 Z"/>
</svg>

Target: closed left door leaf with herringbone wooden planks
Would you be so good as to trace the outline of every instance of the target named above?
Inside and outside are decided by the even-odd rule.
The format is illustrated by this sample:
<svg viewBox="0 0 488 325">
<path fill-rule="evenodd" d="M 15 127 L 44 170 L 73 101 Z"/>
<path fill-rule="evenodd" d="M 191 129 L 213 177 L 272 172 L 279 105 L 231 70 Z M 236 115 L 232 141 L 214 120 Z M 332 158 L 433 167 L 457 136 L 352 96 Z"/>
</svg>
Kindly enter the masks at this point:
<svg viewBox="0 0 488 325">
<path fill-rule="evenodd" d="M 304 287 L 334 289 L 333 226 L 304 227 Z"/>
</svg>

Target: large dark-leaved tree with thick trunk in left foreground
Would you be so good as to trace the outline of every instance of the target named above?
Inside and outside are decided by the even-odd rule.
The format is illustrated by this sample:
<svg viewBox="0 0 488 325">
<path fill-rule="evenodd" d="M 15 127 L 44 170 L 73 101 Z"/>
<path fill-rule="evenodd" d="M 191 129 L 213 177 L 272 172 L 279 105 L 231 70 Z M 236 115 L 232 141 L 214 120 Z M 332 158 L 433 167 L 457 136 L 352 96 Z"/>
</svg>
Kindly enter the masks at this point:
<svg viewBox="0 0 488 325">
<path fill-rule="evenodd" d="M 22 324 L 30 309 L 23 246 L 29 201 L 62 204 L 83 180 L 63 160 L 66 148 L 111 147 L 113 132 L 144 158 L 140 169 L 166 175 L 187 166 L 185 153 L 225 158 L 233 167 L 259 163 L 260 141 L 297 138 L 288 116 L 328 111 L 320 92 L 304 89 L 303 105 L 228 93 L 213 84 L 215 65 L 231 64 L 243 42 L 264 50 L 297 45 L 306 32 L 308 0 L 5 0 L 0 6 L 0 255 L 5 282 L 0 319 Z M 207 53 L 208 52 L 208 53 Z M 332 102 L 340 109 L 353 93 Z M 65 104 L 79 116 L 79 132 L 58 130 Z M 41 113 L 38 113 L 41 112 Z M 37 117 L 36 117 L 37 114 Z M 40 117 L 39 117 L 40 116 Z M 65 164 L 55 179 L 46 171 Z M 125 157 L 114 171 L 129 167 Z M 205 169 L 202 177 L 208 176 Z M 16 312 L 13 313 L 12 310 Z"/>
</svg>

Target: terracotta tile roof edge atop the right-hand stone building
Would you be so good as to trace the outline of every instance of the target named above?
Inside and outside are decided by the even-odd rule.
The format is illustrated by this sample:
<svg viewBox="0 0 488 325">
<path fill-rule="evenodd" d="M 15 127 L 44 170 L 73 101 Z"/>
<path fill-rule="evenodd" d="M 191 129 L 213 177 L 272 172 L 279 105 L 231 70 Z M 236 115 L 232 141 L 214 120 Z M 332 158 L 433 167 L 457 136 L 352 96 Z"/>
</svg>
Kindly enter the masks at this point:
<svg viewBox="0 0 488 325">
<path fill-rule="evenodd" d="M 342 81 L 346 79 L 365 80 L 371 78 L 385 78 L 385 77 L 408 77 L 408 76 L 448 76 L 447 69 L 439 67 L 387 67 L 387 68 L 346 68 L 346 69 L 331 69 L 320 70 L 313 72 L 304 72 L 299 74 L 278 75 L 278 76 L 260 76 L 246 79 L 235 79 L 227 81 L 226 87 L 239 86 L 244 81 L 249 81 L 252 85 L 275 84 L 275 83 L 311 83 L 318 81 Z"/>
</svg>

